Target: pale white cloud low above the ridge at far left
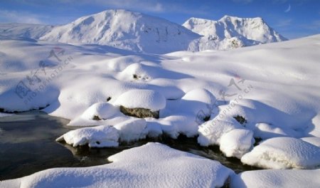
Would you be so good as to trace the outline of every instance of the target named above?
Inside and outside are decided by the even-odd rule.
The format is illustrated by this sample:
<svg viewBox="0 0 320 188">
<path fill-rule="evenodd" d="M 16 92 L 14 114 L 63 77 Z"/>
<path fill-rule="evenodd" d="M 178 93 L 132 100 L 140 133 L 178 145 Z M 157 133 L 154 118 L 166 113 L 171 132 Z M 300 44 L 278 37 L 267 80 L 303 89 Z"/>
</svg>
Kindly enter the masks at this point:
<svg viewBox="0 0 320 188">
<path fill-rule="evenodd" d="M 6 23 L 43 23 L 40 16 L 23 11 L 6 11 L 0 9 L 0 22 Z"/>
</svg>

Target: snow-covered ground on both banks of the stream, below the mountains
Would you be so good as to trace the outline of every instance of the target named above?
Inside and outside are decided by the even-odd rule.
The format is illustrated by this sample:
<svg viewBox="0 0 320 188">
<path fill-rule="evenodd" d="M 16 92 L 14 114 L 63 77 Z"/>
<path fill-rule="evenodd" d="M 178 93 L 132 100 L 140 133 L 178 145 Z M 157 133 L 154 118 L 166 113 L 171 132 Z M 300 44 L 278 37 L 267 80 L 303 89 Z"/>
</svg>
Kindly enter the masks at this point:
<svg viewBox="0 0 320 188">
<path fill-rule="evenodd" d="M 1 38 L 0 46 L 1 112 L 43 109 L 68 118 L 70 126 L 83 126 L 58 138 L 70 145 L 116 147 L 146 136 L 183 134 L 198 137 L 203 146 L 219 145 L 226 156 L 247 164 L 309 169 L 243 172 L 232 175 L 231 184 L 254 186 L 249 177 L 261 175 L 257 182 L 277 177 L 289 187 L 286 174 L 319 175 L 320 35 L 230 51 L 162 55 L 26 38 Z M 120 106 L 159 110 L 159 119 L 129 117 Z M 254 138 L 262 139 L 255 147 Z M 100 167 L 48 169 L 0 187 L 121 187 L 137 179 L 142 187 L 156 179 L 162 187 L 220 187 L 233 174 L 218 162 L 159 144 L 110 160 Z M 316 181 L 308 181 L 310 187 L 319 185 Z"/>
</svg>

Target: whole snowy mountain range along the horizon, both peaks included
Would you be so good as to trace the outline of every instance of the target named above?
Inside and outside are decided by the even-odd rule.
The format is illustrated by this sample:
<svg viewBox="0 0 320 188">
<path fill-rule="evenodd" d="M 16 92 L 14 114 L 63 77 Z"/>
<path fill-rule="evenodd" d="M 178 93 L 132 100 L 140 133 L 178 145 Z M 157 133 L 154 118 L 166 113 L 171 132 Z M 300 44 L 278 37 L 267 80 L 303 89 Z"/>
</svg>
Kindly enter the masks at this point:
<svg viewBox="0 0 320 188">
<path fill-rule="evenodd" d="M 261 18 L 224 16 L 219 21 L 191 18 L 180 26 L 166 19 L 122 9 L 83 16 L 62 26 L 0 24 L 0 38 L 100 44 L 158 54 L 225 50 L 287 40 Z"/>
</svg>

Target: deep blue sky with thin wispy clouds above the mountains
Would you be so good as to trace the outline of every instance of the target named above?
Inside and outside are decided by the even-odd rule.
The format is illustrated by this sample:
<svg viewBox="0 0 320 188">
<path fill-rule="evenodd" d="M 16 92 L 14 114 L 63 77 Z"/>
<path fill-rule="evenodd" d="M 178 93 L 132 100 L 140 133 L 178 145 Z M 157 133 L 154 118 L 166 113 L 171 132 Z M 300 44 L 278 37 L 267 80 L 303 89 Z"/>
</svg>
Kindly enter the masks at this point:
<svg viewBox="0 0 320 188">
<path fill-rule="evenodd" d="M 287 38 L 320 33 L 320 0 L 0 0 L 0 23 L 59 25 L 107 9 L 127 9 L 182 24 L 190 17 L 262 17 Z"/>
</svg>

